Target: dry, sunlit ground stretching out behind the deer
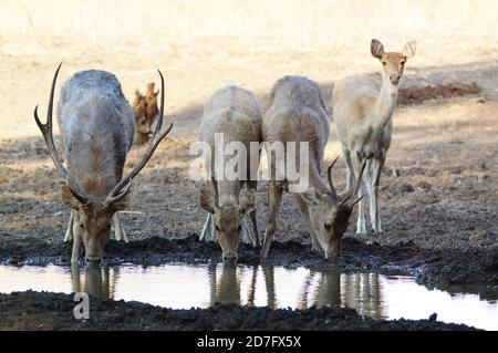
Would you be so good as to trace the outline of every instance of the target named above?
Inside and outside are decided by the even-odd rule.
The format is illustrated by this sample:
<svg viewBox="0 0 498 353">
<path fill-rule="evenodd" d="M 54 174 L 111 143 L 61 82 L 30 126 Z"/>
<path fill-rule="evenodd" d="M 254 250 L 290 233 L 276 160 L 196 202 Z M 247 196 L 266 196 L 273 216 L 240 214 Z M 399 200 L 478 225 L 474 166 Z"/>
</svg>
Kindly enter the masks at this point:
<svg viewBox="0 0 498 353">
<path fill-rule="evenodd" d="M 168 8 L 153 0 L 141 7 L 89 3 L 0 3 L 6 10 L 0 24 L 0 241 L 4 245 L 30 237 L 48 242 L 63 238 L 69 212 L 59 200 L 60 179 L 32 118 L 35 104 L 44 111 L 50 80 L 61 60 L 60 84 L 77 70 L 105 69 L 117 75 L 129 98 L 136 87 L 157 80 L 155 69 L 163 70 L 167 120 L 175 122 L 172 136 L 179 142 L 164 142 L 136 178 L 131 210 L 138 214 L 126 215 L 124 222 L 132 240 L 180 238 L 198 233 L 205 218 L 197 206 L 198 185 L 188 178 L 188 145 L 196 138 L 206 98 L 222 85 L 238 84 L 268 106 L 276 80 L 301 74 L 320 83 L 329 103 L 335 80 L 380 70 L 369 53 L 375 35 L 387 50 L 418 40 L 417 55 L 406 70 L 405 87 L 412 90 L 412 98 L 422 93 L 430 97 L 438 90 L 427 87 L 440 84 L 477 84 L 480 92 L 450 98 L 436 94 L 400 106 L 382 180 L 385 233 L 371 238 L 381 243 L 413 240 L 437 249 L 497 249 L 498 38 L 491 15 L 496 2 L 469 0 L 448 7 L 445 1 L 411 0 L 388 6 L 271 1 L 266 7 L 237 2 L 228 8 L 216 0 L 201 8 L 176 2 Z M 152 8 L 157 11 L 147 11 Z M 386 13 L 411 13 L 411 18 Z M 133 149 L 127 167 L 142 153 Z M 332 125 L 326 160 L 338 153 Z M 344 178 L 341 160 L 335 173 L 340 188 Z M 261 229 L 264 189 L 263 183 L 258 201 Z M 308 242 L 305 222 L 294 219 L 301 218 L 286 196 L 278 240 Z M 354 221 L 347 236 L 355 237 Z"/>
</svg>

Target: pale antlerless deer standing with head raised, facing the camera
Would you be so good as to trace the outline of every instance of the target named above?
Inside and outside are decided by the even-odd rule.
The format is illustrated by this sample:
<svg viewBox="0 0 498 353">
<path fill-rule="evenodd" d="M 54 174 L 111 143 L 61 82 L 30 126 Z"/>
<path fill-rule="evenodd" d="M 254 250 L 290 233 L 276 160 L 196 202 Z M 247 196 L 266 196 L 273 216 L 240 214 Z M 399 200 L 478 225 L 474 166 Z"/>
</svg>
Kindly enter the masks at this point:
<svg viewBox="0 0 498 353">
<path fill-rule="evenodd" d="M 382 80 L 354 76 L 339 81 L 333 91 L 333 121 L 347 165 L 347 186 L 367 160 L 364 180 L 370 200 L 372 228 L 382 232 L 378 215 L 378 185 L 393 131 L 393 113 L 398 84 L 405 63 L 415 55 L 416 42 L 408 42 L 402 53 L 385 52 L 384 45 L 372 40 L 371 52 L 382 63 Z M 360 189 L 360 197 L 363 196 Z M 366 233 L 363 200 L 360 201 L 356 232 Z"/>
</svg>

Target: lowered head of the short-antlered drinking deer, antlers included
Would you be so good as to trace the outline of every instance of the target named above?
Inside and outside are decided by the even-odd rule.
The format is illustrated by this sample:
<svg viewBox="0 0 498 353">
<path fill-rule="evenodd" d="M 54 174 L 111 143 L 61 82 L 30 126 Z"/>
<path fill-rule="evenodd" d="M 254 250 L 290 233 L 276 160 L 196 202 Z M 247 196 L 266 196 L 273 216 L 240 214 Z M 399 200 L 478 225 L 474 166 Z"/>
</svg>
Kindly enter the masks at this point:
<svg viewBox="0 0 498 353">
<path fill-rule="evenodd" d="M 325 258 L 341 256 L 342 236 L 347 230 L 354 206 L 361 200 L 361 198 L 356 198 L 356 194 L 365 169 L 365 163 L 363 163 L 355 186 L 342 195 L 338 195 L 332 183 L 332 168 L 338 158 L 328 169 L 330 191 L 322 193 L 315 188 L 310 188 L 303 194 L 304 200 L 308 203 L 312 231 L 320 242 Z"/>
</svg>

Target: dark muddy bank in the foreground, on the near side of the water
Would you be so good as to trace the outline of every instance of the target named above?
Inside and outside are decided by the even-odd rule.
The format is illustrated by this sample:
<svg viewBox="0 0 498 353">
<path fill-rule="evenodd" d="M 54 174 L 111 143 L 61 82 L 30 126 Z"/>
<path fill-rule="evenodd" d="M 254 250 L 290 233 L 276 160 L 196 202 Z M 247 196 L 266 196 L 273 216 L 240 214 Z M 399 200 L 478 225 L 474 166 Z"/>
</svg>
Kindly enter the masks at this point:
<svg viewBox="0 0 498 353">
<path fill-rule="evenodd" d="M 0 330 L 473 330 L 428 320 L 374 320 L 354 309 L 271 310 L 216 304 L 172 310 L 91 297 L 90 320 L 73 318 L 73 295 L 46 292 L 0 294 Z"/>
</svg>

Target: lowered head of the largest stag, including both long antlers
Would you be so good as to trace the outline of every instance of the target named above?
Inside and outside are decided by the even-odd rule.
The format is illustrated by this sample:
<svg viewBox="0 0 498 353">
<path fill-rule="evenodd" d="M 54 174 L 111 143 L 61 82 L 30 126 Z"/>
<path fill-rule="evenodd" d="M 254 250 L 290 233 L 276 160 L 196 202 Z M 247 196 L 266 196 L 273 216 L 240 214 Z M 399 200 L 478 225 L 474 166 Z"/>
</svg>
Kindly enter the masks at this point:
<svg viewBox="0 0 498 353">
<path fill-rule="evenodd" d="M 106 195 L 103 194 L 102 197 L 95 198 L 86 195 L 84 189 L 76 181 L 76 178 L 71 176 L 68 169 L 61 162 L 59 154 L 55 149 L 55 145 L 53 142 L 53 133 L 52 133 L 52 111 L 53 111 L 53 96 L 55 82 L 58 79 L 59 71 L 61 69 L 62 63 L 59 65 L 58 70 L 52 80 L 52 89 L 50 92 L 49 98 L 49 107 L 46 113 L 46 123 L 42 124 L 38 116 L 38 105 L 34 108 L 34 120 L 37 122 L 38 127 L 40 128 L 43 138 L 45 141 L 46 147 L 49 149 L 50 156 L 52 157 L 53 163 L 60 175 L 65 180 L 65 185 L 63 185 L 62 191 L 62 200 L 64 204 L 77 211 L 77 222 L 75 227 L 79 227 L 77 231 L 83 233 L 83 241 L 85 246 L 85 257 L 89 261 L 100 261 L 102 259 L 102 255 L 104 251 L 105 243 L 107 242 L 110 235 L 110 220 L 115 211 L 121 210 L 127 206 L 128 193 L 132 187 L 133 178 L 142 170 L 142 168 L 147 164 L 148 159 L 151 159 L 154 150 L 159 145 L 160 141 L 169 133 L 173 127 L 173 123 L 169 127 L 162 132 L 162 123 L 163 123 L 163 114 L 159 115 L 159 120 L 154 132 L 154 136 L 151 139 L 151 143 L 145 152 L 145 155 L 142 157 L 141 162 L 129 172 L 125 177 L 121 179 L 114 187 L 112 187 L 111 191 Z M 162 82 L 162 94 L 160 94 L 160 112 L 164 113 L 164 77 L 159 72 L 160 82 Z M 92 158 L 92 156 L 89 156 Z M 103 187 L 98 183 L 104 183 L 104 178 L 98 178 L 94 183 L 95 187 Z M 107 187 L 107 186 L 105 186 Z"/>
</svg>

